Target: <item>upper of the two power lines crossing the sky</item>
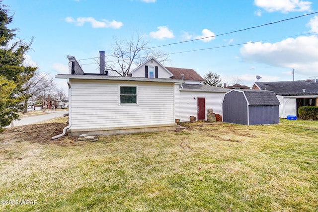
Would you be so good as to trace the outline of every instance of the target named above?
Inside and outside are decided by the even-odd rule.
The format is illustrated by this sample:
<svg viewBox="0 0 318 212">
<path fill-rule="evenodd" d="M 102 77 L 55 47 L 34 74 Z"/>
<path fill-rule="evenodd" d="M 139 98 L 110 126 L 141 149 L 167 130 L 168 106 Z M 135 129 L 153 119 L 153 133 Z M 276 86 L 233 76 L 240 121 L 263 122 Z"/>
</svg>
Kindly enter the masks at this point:
<svg viewBox="0 0 318 212">
<path fill-rule="evenodd" d="M 236 33 L 236 32 L 246 31 L 246 30 L 249 30 L 249 29 L 254 29 L 254 28 L 259 28 L 259 27 L 263 27 L 263 26 L 267 26 L 267 25 L 271 25 L 271 24 L 280 23 L 280 22 L 283 22 L 283 21 L 293 20 L 293 19 L 296 19 L 296 18 L 300 18 L 300 17 L 304 17 L 304 16 L 308 16 L 308 15 L 313 15 L 313 14 L 317 14 L 317 13 L 318 12 L 312 12 L 312 13 L 300 15 L 300 16 L 297 16 L 297 17 L 287 18 L 287 19 L 283 19 L 283 20 L 279 20 L 279 21 L 275 21 L 275 22 L 270 22 L 270 23 L 266 23 L 266 24 L 262 24 L 262 25 L 258 25 L 258 26 L 252 26 L 252 27 L 248 27 L 248 28 L 245 28 L 245 29 L 239 29 L 239 30 L 235 30 L 235 31 L 232 31 L 232 32 L 222 33 L 222 34 L 208 36 L 208 37 L 204 37 L 204 38 L 197 38 L 197 39 L 192 39 L 192 40 L 187 40 L 187 41 L 180 41 L 180 42 L 176 42 L 176 43 L 170 43 L 170 44 L 164 44 L 164 45 L 160 45 L 160 46 L 149 47 L 149 48 L 146 48 L 145 50 L 159 48 L 159 47 L 164 47 L 164 46 L 171 46 L 171 45 L 175 45 L 175 44 L 187 43 L 187 42 L 192 42 L 192 41 L 197 41 L 197 40 L 203 40 L 203 39 L 207 39 L 207 38 L 218 37 L 218 36 L 221 36 L 221 35 L 228 35 L 228 34 L 232 34 L 232 33 Z M 124 52 L 124 54 L 125 53 L 130 53 L 130 52 Z M 115 55 L 114 54 L 113 55 L 106 55 L 105 57 L 111 57 L 111 56 L 115 56 Z M 91 59 L 96 59 L 96 58 L 99 58 L 99 57 L 80 59 L 79 61 L 91 60 Z"/>
</svg>

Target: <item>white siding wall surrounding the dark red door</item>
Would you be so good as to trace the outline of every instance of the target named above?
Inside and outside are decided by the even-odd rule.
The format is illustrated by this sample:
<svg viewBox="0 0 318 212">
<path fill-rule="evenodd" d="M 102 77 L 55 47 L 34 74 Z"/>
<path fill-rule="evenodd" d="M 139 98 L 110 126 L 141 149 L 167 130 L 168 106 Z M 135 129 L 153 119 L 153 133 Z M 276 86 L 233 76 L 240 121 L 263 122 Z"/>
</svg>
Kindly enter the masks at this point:
<svg viewBox="0 0 318 212">
<path fill-rule="evenodd" d="M 207 120 L 208 109 L 213 113 L 222 115 L 222 100 L 224 93 L 180 91 L 180 122 L 188 122 L 190 116 L 198 119 L 198 98 L 205 98 L 205 119 Z M 194 99 L 195 97 L 195 99 Z"/>
</svg>

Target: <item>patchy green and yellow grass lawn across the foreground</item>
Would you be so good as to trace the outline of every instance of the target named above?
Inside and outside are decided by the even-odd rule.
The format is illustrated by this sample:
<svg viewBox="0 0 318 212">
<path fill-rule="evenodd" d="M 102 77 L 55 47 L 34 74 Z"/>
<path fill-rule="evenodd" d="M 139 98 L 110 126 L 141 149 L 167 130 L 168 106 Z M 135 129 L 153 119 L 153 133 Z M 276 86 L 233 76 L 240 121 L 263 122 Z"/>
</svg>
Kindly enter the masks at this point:
<svg viewBox="0 0 318 212">
<path fill-rule="evenodd" d="M 0 141 L 0 211 L 318 211 L 318 121 Z M 66 139 L 67 142 L 67 139 Z"/>
</svg>

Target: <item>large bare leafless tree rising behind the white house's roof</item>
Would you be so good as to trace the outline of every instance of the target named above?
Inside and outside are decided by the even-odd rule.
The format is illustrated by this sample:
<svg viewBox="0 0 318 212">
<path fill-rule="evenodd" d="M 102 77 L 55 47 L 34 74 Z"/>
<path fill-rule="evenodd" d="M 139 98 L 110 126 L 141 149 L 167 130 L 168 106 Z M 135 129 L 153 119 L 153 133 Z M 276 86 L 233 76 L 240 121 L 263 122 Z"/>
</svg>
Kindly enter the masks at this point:
<svg viewBox="0 0 318 212">
<path fill-rule="evenodd" d="M 128 76 L 133 66 L 139 66 L 150 58 L 160 63 L 168 61 L 169 55 L 159 50 L 151 50 L 149 41 L 140 32 L 133 33 L 130 40 L 114 37 L 114 56 L 105 59 L 105 69 L 120 76 Z"/>
</svg>

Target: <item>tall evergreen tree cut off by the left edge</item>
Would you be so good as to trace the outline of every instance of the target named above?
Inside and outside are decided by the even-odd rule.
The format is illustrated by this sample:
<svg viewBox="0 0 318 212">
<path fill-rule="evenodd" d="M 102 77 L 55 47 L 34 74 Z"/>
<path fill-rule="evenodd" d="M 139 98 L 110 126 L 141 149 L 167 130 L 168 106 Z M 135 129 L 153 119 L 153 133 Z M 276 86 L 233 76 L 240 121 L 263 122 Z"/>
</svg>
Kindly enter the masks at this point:
<svg viewBox="0 0 318 212">
<path fill-rule="evenodd" d="M 6 5 L 0 0 L 0 132 L 14 119 L 19 119 L 19 111 L 25 99 L 23 85 L 37 68 L 23 66 L 24 54 L 30 48 L 22 40 L 13 40 L 16 29 L 9 29 L 12 22 Z"/>
</svg>

